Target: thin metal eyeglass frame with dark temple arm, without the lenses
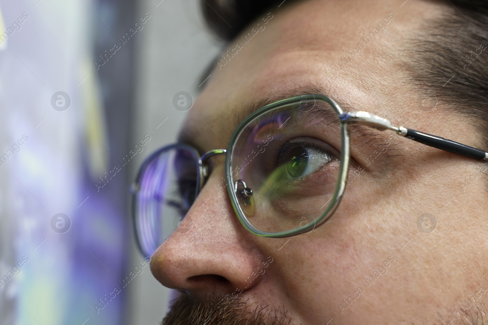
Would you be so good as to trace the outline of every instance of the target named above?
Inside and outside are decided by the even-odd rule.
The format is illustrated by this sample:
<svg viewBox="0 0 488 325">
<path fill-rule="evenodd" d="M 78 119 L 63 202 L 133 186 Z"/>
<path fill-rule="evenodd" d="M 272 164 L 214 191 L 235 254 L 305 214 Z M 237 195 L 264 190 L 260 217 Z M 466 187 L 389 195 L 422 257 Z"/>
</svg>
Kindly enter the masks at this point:
<svg viewBox="0 0 488 325">
<path fill-rule="evenodd" d="M 321 216 L 319 216 L 317 219 L 314 219 L 313 222 L 310 222 L 304 227 L 296 228 L 296 229 L 291 229 L 287 231 L 281 231 L 281 232 L 266 232 L 262 231 L 259 229 L 254 228 L 251 223 L 247 220 L 243 210 L 241 209 L 240 205 L 238 204 L 238 191 L 237 191 L 237 185 L 238 182 L 241 180 L 236 181 L 233 184 L 233 180 L 231 177 L 231 159 L 232 159 L 232 151 L 234 149 L 234 144 L 236 139 L 238 138 L 239 134 L 241 131 L 248 125 L 248 123 L 252 120 L 254 120 L 257 116 L 262 115 L 266 112 L 269 112 L 271 110 L 275 110 L 277 108 L 280 108 L 282 106 L 288 106 L 291 104 L 301 104 L 302 102 L 315 102 L 315 101 L 324 101 L 330 105 L 330 107 L 335 111 L 335 113 L 338 115 L 339 118 L 339 124 L 341 128 L 341 158 L 340 158 L 340 167 L 339 167 L 339 176 L 338 176 L 338 182 L 336 184 L 334 193 L 332 198 L 330 199 L 330 203 L 327 206 L 327 208 L 324 210 Z M 203 185 L 208 177 L 208 168 L 206 165 L 206 161 L 215 155 L 221 155 L 225 154 L 225 183 L 227 187 L 227 191 L 230 197 L 230 201 L 232 203 L 232 207 L 234 208 L 234 211 L 237 214 L 237 217 L 241 224 L 244 226 L 245 229 L 249 230 L 255 235 L 261 236 L 261 237 L 270 237 L 270 238 L 280 238 L 280 237 L 288 237 L 288 236 L 293 236 L 297 235 L 300 233 L 305 233 L 307 230 L 314 229 L 315 227 L 323 224 L 325 221 L 327 221 L 332 214 L 335 212 L 337 207 L 339 206 L 339 203 L 342 199 L 342 196 L 344 194 L 344 191 L 346 189 L 346 180 L 347 180 L 347 171 L 349 168 L 349 153 L 350 153 L 350 138 L 349 138 L 349 128 L 348 126 L 351 123 L 358 123 L 358 124 L 363 124 L 372 128 L 375 128 L 380 131 L 385 131 L 385 130 L 391 130 L 394 131 L 396 134 L 405 136 L 409 139 L 415 140 L 417 142 L 423 143 L 427 146 L 434 147 L 437 149 L 441 149 L 450 153 L 455 153 L 463 156 L 467 156 L 470 158 L 475 158 L 475 159 L 485 159 L 488 160 L 488 153 L 475 149 L 472 147 L 469 147 L 467 145 L 454 142 L 451 140 L 447 140 L 445 138 L 436 136 L 436 135 L 431 135 L 431 134 L 426 134 L 422 132 L 418 132 L 412 129 L 406 129 L 402 126 L 400 127 L 395 127 L 392 126 L 390 121 L 387 120 L 386 118 L 379 117 L 377 115 L 372 115 L 367 112 L 344 112 L 343 108 L 332 98 L 325 96 L 325 95 L 320 95 L 320 94 L 315 94 L 315 95 L 303 95 L 303 96 L 295 96 L 287 99 L 283 99 L 271 104 L 268 104 L 259 110 L 255 111 L 251 115 L 247 116 L 236 128 L 234 133 L 232 134 L 228 148 L 230 150 L 225 150 L 225 149 L 215 149 L 215 150 L 210 150 L 206 153 L 204 153 L 202 156 L 199 155 L 198 151 L 185 144 L 174 144 L 171 146 L 164 147 L 160 150 L 158 150 L 156 153 L 153 153 L 149 158 L 146 159 L 145 163 L 141 166 L 141 169 L 137 175 L 136 182 L 132 186 L 132 193 L 133 193 L 133 200 L 132 200 L 132 215 L 133 215 L 133 220 L 134 220 L 134 226 L 135 228 L 137 227 L 136 223 L 136 211 L 135 211 L 135 200 L 136 200 L 136 193 L 139 189 L 139 185 L 137 180 L 140 179 L 141 173 L 143 172 L 145 166 L 157 155 L 159 155 L 161 152 L 178 147 L 178 148 L 185 148 L 189 151 L 191 151 L 196 160 L 198 161 L 198 171 L 199 171 L 199 179 L 197 180 L 197 187 L 196 187 L 196 193 L 195 193 L 195 198 L 197 197 L 198 193 L 201 191 L 203 188 Z M 244 182 L 243 182 L 244 183 Z M 244 183 L 244 190 L 246 191 L 246 186 Z M 249 191 L 251 191 L 249 189 Z M 252 193 L 252 191 L 251 191 Z M 242 193 L 240 193 L 243 195 Z M 137 229 L 136 229 L 136 236 L 137 236 Z"/>
</svg>

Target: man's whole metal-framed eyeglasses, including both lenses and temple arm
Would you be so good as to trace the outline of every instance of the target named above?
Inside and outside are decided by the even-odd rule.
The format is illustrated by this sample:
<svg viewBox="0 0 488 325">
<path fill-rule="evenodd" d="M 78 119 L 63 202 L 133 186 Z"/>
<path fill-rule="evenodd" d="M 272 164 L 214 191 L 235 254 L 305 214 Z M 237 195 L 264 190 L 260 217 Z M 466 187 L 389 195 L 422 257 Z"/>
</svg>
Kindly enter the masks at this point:
<svg viewBox="0 0 488 325">
<path fill-rule="evenodd" d="M 324 95 L 292 97 L 249 115 L 227 149 L 202 156 L 185 144 L 164 147 L 142 164 L 132 185 L 138 243 L 149 256 L 172 231 L 188 231 L 188 214 L 211 173 L 209 158 L 225 154 L 230 202 L 245 229 L 262 237 L 306 233 L 327 221 L 346 189 L 350 125 L 391 130 L 417 142 L 476 159 L 488 153 L 404 127 L 367 112 L 344 112 Z M 217 217 L 217 216 L 216 216 Z"/>
</svg>

